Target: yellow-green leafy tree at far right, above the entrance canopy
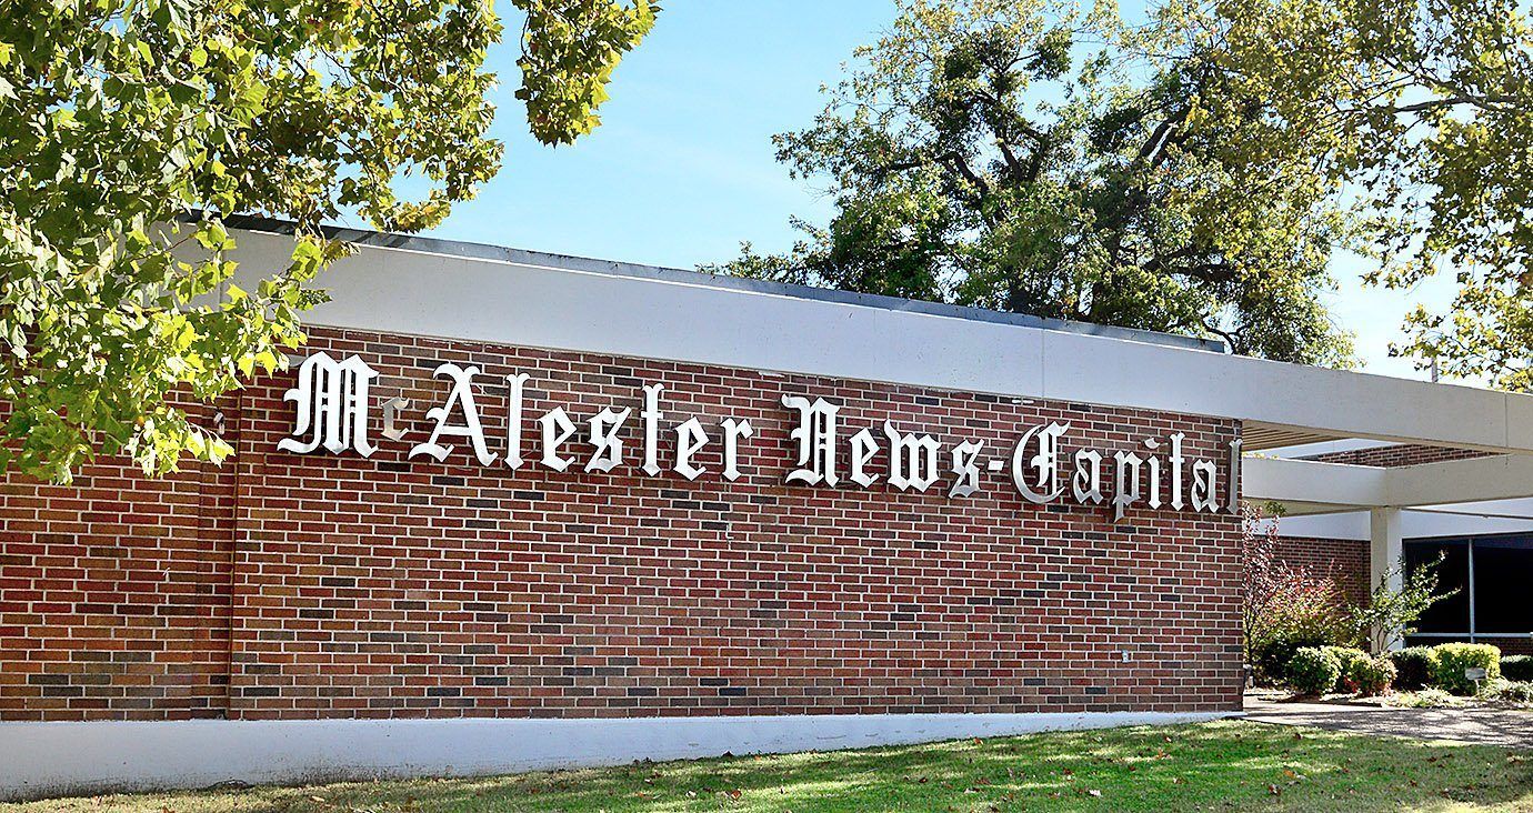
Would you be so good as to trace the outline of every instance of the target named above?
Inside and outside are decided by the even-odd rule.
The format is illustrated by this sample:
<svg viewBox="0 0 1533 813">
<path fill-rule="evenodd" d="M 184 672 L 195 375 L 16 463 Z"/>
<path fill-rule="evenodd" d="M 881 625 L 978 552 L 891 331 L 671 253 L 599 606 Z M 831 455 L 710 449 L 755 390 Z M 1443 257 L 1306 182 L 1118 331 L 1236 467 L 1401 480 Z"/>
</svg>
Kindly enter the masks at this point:
<svg viewBox="0 0 1533 813">
<path fill-rule="evenodd" d="M 1533 390 L 1533 28 L 1516 0 L 1217 0 L 1182 11 L 1271 130 L 1360 209 L 1369 281 L 1453 273 L 1392 350 Z M 1252 143 L 1240 144 L 1249 149 Z"/>
</svg>

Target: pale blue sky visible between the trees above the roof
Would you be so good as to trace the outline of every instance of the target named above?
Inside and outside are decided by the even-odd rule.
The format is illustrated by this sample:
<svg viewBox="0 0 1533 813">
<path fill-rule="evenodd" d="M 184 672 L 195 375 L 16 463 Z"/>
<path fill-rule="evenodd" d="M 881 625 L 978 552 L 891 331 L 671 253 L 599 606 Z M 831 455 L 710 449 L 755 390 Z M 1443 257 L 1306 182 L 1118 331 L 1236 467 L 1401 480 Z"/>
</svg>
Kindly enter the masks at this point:
<svg viewBox="0 0 1533 813">
<path fill-rule="evenodd" d="M 572 147 L 526 133 L 515 91 L 515 28 L 492 55 L 501 75 L 495 137 L 506 163 L 480 198 L 434 236 L 690 268 L 739 242 L 782 250 L 789 215 L 823 222 L 828 201 L 791 181 L 771 135 L 808 124 L 852 48 L 894 18 L 889 0 L 668 0 L 655 32 L 618 67 L 602 126 Z M 1424 377 L 1387 357 L 1416 301 L 1444 302 L 1452 281 L 1418 291 L 1363 288 L 1338 261 L 1337 321 L 1357 333 L 1364 368 Z"/>
</svg>

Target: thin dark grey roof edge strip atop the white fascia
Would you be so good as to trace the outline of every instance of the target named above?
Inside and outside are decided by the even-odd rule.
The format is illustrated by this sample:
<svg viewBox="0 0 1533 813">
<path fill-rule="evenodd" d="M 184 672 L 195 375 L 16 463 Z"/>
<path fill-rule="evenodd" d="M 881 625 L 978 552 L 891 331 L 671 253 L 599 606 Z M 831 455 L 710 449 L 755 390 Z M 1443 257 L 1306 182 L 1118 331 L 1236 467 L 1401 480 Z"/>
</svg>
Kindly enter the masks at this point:
<svg viewBox="0 0 1533 813">
<path fill-rule="evenodd" d="M 291 235 L 293 221 L 267 218 L 259 215 L 230 215 L 224 218 L 224 225 L 247 232 L 270 232 L 276 235 Z M 325 236 L 356 245 L 371 245 L 377 249 L 397 249 L 403 252 L 422 252 L 429 255 L 458 256 L 464 259 L 489 259 L 500 262 L 517 262 L 524 265 L 543 265 L 550 268 L 567 268 L 572 272 L 601 273 L 613 276 L 629 276 L 636 279 L 659 279 L 667 282 L 682 282 L 690 285 L 711 285 L 716 288 L 766 293 L 774 296 L 791 296 L 796 299 L 812 299 L 819 302 L 839 302 L 843 305 L 862 305 L 868 308 L 897 310 L 906 313 L 924 313 L 929 316 L 947 316 L 952 319 L 969 319 L 975 322 L 992 322 L 1001 325 L 1019 325 L 1041 330 L 1058 330 L 1065 333 L 1081 333 L 1085 336 L 1105 336 L 1110 339 L 1127 339 L 1133 342 L 1157 344 L 1165 347 L 1182 347 L 1188 350 L 1208 350 L 1213 353 L 1228 351 L 1222 339 L 1179 336 L 1154 330 L 1124 328 L 1113 325 L 1098 325 L 1091 322 L 1076 322 L 1070 319 L 1047 319 L 1029 313 L 1006 313 L 966 305 L 950 305 L 944 302 L 924 302 L 920 299 L 903 299 L 898 296 L 881 296 L 874 293 L 843 291 L 837 288 L 817 288 L 812 285 L 794 285 L 789 282 L 773 282 L 768 279 L 750 279 L 744 276 L 710 275 L 687 268 L 668 268 L 664 265 L 644 265 L 639 262 L 619 262 L 613 259 L 595 259 L 586 256 L 556 255 L 549 252 L 532 252 L 527 249 L 507 249 L 484 242 L 466 242 L 455 239 L 428 238 L 420 235 L 400 235 L 391 232 L 373 232 L 366 229 L 346 229 L 325 225 Z"/>
</svg>

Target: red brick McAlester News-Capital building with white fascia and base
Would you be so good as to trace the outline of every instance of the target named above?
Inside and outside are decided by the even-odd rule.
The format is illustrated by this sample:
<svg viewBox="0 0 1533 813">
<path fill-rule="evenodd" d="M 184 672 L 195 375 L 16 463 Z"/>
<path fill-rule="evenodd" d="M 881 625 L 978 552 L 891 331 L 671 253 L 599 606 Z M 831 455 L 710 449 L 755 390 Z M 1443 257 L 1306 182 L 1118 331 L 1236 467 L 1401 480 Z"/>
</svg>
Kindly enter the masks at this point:
<svg viewBox="0 0 1533 813">
<path fill-rule="evenodd" d="M 1521 551 L 1525 396 L 343 236 L 293 368 L 201 408 L 236 459 L 3 485 L 0 795 L 1206 719 L 1242 499 L 1363 584 L 1441 506 Z"/>
</svg>

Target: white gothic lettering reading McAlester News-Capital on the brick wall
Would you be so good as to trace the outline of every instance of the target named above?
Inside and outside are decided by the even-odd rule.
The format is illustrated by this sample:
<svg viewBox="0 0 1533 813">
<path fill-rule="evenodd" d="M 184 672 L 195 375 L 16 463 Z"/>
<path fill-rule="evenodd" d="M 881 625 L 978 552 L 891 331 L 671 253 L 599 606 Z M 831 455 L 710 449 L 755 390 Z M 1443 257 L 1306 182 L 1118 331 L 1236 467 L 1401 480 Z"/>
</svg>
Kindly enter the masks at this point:
<svg viewBox="0 0 1533 813">
<path fill-rule="evenodd" d="M 426 410 L 431 436 L 409 448 L 411 459 L 443 462 L 458 443 L 466 443 L 469 454 L 484 466 L 520 469 L 540 465 L 553 471 L 587 472 L 636 466 L 650 477 L 675 474 L 698 480 L 710 474 L 699 463 L 701 453 L 716 446 L 724 462 L 717 476 L 733 482 L 742 476 L 740 449 L 756 434 L 750 420 L 734 417 L 716 425 L 691 417 L 665 426 L 665 387 L 645 383 L 641 387 L 642 408 L 638 416 L 632 406 L 607 406 L 576 422 L 563 406 L 555 406 L 533 419 L 537 431 L 532 437 L 523 437 L 527 373 L 487 379 L 477 367 L 446 362 L 437 367 L 435 376 L 445 379 L 449 390 L 440 403 Z M 277 449 L 297 454 L 323 449 L 371 457 L 377 446 L 368 440 L 369 387 L 377 377 L 379 373 L 357 356 L 337 360 L 328 353 L 314 353 L 305 359 L 297 368 L 297 383 L 285 394 L 296 406 L 293 437 L 279 440 Z M 507 396 L 510 414 L 497 436 L 497 449 L 491 448 L 491 436 L 474 400 L 480 387 L 503 387 Z M 403 439 L 405 433 L 396 422 L 399 411 L 408 406 L 409 400 L 402 397 L 383 403 L 385 437 Z M 1012 486 L 1032 503 L 1069 499 L 1079 505 L 1099 505 L 1111 511 L 1114 522 L 1136 505 L 1205 514 L 1240 511 L 1240 440 L 1229 442 L 1228 477 L 1220 483 L 1214 460 L 1185 454 L 1183 433 L 1147 437 L 1133 449 L 1082 448 L 1065 454 L 1064 440 L 1072 426 L 1055 420 L 1026 428 L 1012 448 L 987 456 L 984 440 L 964 440 L 944 448 L 931 434 L 904 431 L 888 420 L 880 428 L 849 434 L 842 426 L 840 406 L 812 394 L 783 396 L 782 408 L 794 420 L 789 442 L 796 459 L 786 483 L 866 489 L 875 488 L 881 479 L 897 491 L 940 488 L 949 499 L 961 500 L 981 491 L 983 472 L 1001 472 L 1009 474 Z M 641 449 L 625 448 L 619 433 L 629 425 L 642 430 Z M 662 433 L 675 437 L 675 451 L 664 462 Z M 533 454 L 529 454 L 529 446 Z M 874 469 L 880 459 L 883 474 Z M 1110 486 L 1104 471 L 1111 472 Z"/>
</svg>

